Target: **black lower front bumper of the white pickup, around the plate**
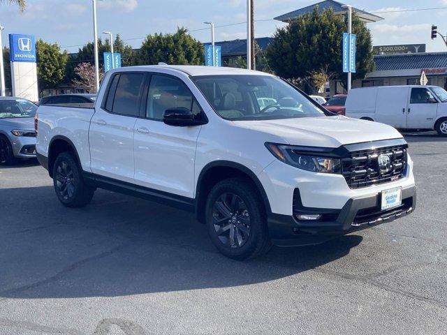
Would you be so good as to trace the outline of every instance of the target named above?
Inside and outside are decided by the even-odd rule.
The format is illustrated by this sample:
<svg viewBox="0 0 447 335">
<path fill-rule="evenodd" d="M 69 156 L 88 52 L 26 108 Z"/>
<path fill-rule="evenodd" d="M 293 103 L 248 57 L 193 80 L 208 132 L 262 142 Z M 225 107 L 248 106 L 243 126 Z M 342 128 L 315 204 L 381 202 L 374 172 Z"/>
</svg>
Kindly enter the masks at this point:
<svg viewBox="0 0 447 335">
<path fill-rule="evenodd" d="M 402 188 L 402 205 L 381 211 L 381 193 L 349 199 L 342 209 L 315 209 L 302 206 L 295 193 L 293 215 L 269 214 L 270 239 L 277 246 L 320 244 L 335 237 L 374 225 L 394 221 L 416 208 L 416 186 Z M 318 221 L 298 221 L 296 214 L 323 214 Z"/>
</svg>

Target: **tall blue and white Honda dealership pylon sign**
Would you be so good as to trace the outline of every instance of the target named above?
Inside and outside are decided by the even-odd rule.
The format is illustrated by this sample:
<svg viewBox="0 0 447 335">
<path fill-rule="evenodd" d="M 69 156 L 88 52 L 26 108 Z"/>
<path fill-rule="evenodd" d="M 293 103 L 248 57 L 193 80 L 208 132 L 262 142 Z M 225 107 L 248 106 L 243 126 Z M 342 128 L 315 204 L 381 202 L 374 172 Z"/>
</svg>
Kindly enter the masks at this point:
<svg viewBox="0 0 447 335">
<path fill-rule="evenodd" d="M 13 96 L 38 101 L 36 38 L 32 35 L 10 34 L 9 49 Z"/>
</svg>

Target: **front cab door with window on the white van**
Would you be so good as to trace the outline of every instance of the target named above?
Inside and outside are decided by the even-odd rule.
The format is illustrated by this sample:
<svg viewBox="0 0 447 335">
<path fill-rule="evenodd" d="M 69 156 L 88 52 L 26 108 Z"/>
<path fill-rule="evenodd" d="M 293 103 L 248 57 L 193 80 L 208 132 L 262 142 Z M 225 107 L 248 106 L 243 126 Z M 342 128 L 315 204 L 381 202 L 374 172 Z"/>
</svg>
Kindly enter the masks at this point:
<svg viewBox="0 0 447 335">
<path fill-rule="evenodd" d="M 411 89 L 407 114 L 406 128 L 431 129 L 437 116 L 438 101 L 430 89 L 413 87 Z"/>
</svg>

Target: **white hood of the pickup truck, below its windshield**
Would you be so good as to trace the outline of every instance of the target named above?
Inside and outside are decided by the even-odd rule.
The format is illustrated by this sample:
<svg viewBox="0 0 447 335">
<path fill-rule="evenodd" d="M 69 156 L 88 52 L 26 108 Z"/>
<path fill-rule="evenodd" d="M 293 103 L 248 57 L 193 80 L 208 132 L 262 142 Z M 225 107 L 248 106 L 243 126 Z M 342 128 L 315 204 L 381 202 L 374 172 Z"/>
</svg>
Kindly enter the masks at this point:
<svg viewBox="0 0 447 335">
<path fill-rule="evenodd" d="M 235 126 L 279 137 L 285 144 L 307 147 L 339 147 L 342 144 L 402 138 L 393 127 L 349 117 L 235 121 Z"/>
</svg>

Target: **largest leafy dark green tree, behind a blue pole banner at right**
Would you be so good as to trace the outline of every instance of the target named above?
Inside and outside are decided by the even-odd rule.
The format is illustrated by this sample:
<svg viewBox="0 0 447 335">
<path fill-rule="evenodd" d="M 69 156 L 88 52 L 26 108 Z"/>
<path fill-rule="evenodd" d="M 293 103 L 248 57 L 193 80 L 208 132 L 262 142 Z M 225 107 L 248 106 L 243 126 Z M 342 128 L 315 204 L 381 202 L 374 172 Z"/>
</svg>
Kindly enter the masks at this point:
<svg viewBox="0 0 447 335">
<path fill-rule="evenodd" d="M 345 20 L 332 9 L 303 15 L 288 26 L 277 29 L 274 41 L 267 49 L 268 63 L 281 77 L 304 83 L 310 91 L 315 73 L 325 73 L 346 80 L 342 73 L 342 34 L 346 31 Z M 353 15 L 353 34 L 357 34 L 356 73 L 353 79 L 363 78 L 374 70 L 371 34 L 365 24 Z M 312 76 L 312 73 L 314 76 Z"/>
</svg>

